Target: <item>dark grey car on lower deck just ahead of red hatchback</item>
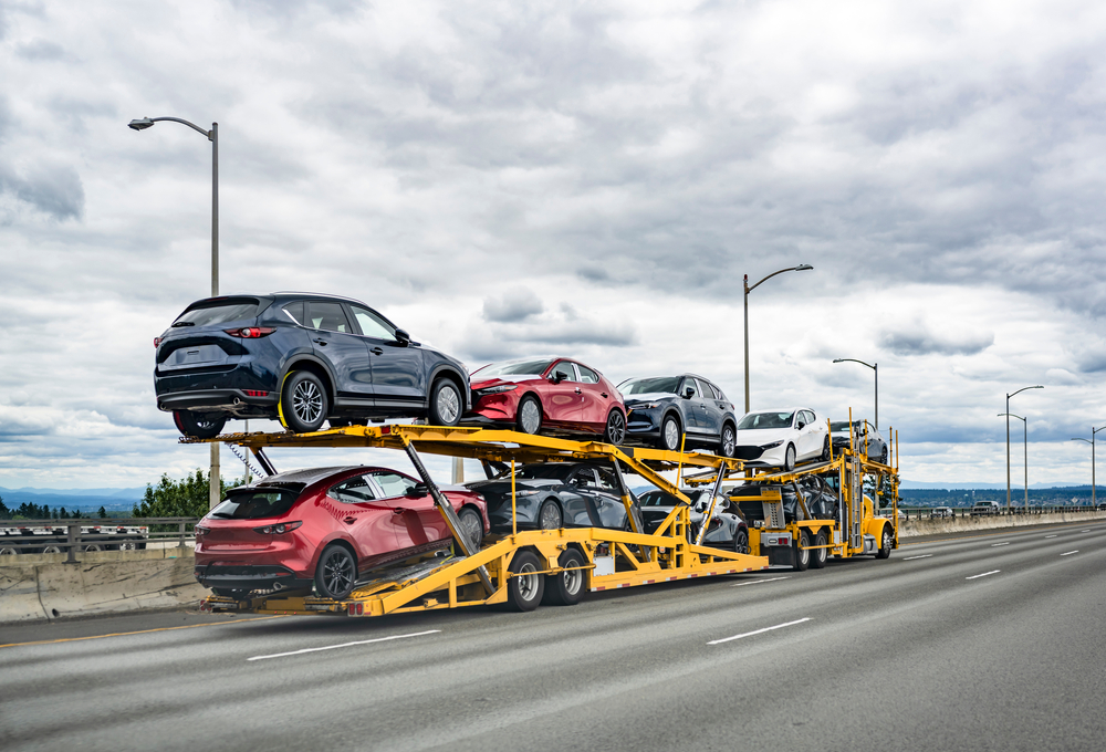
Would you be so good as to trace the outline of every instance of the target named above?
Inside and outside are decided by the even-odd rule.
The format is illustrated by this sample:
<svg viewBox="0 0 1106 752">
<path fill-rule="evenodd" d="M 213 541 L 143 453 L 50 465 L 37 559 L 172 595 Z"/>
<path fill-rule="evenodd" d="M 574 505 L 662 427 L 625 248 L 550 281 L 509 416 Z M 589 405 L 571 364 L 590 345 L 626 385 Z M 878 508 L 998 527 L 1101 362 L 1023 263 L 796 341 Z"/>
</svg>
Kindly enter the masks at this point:
<svg viewBox="0 0 1106 752">
<path fill-rule="evenodd" d="M 488 503 L 491 529 L 511 532 L 511 474 L 466 483 Z M 535 462 L 514 473 L 519 529 L 628 528 L 618 479 L 609 466 L 589 462 Z"/>
</svg>

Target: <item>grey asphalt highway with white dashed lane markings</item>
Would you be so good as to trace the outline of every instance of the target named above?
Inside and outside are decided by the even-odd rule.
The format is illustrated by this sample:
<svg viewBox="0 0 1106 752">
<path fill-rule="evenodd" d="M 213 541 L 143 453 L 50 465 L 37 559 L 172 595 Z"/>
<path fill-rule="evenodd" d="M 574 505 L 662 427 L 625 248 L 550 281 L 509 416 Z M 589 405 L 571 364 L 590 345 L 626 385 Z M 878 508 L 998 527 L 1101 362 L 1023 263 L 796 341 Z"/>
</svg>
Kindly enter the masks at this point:
<svg viewBox="0 0 1106 752">
<path fill-rule="evenodd" d="M 1104 571 L 1092 522 L 531 614 L 0 628 L 0 749 L 1103 750 Z"/>
</svg>

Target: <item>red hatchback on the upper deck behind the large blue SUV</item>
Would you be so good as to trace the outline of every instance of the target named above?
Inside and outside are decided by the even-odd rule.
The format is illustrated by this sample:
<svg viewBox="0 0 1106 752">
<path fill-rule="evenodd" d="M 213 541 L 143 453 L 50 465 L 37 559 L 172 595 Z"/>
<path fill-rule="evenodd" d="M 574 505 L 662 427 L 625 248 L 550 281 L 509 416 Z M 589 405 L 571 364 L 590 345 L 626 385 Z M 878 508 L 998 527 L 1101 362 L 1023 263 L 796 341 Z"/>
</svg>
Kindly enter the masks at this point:
<svg viewBox="0 0 1106 752">
<path fill-rule="evenodd" d="M 597 434 L 607 443 L 626 438 L 626 406 L 603 374 L 567 358 L 493 363 L 471 374 L 472 412 L 466 422 Z"/>
</svg>

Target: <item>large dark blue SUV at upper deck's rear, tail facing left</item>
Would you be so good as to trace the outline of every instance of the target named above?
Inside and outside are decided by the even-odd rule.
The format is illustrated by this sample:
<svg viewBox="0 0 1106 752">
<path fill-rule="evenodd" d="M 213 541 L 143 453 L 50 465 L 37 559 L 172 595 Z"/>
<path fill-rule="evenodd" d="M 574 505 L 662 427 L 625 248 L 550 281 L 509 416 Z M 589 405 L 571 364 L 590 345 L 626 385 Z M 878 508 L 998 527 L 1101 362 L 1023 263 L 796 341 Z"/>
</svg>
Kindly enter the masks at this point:
<svg viewBox="0 0 1106 752">
<path fill-rule="evenodd" d="M 427 418 L 456 426 L 468 370 L 348 297 L 276 292 L 196 301 L 154 341 L 157 407 L 186 436 L 229 418 L 272 418 L 296 434 L 324 420 Z"/>
</svg>

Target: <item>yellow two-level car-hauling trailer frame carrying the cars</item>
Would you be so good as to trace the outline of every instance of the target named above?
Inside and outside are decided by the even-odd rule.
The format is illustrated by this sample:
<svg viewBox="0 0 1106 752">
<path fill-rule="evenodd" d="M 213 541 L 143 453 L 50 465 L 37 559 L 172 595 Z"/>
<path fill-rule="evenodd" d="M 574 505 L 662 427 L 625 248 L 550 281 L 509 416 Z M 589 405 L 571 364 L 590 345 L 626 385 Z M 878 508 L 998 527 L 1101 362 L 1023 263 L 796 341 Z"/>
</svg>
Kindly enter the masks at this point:
<svg viewBox="0 0 1106 752">
<path fill-rule="evenodd" d="M 184 443 L 198 441 L 201 440 L 181 439 Z M 383 616 L 509 602 L 518 608 L 522 583 L 530 583 L 535 576 L 555 575 L 564 577 L 567 583 L 574 577 L 572 572 L 581 572 L 582 595 L 585 589 L 605 591 L 768 568 L 766 557 L 701 545 L 707 525 L 700 526 L 696 540 L 689 540 L 690 502 L 679 488 L 658 474 L 665 470 L 681 472 L 684 467 L 708 469 L 714 476 L 717 490 L 724 477 L 741 470 L 740 460 L 699 452 L 615 447 L 510 430 L 440 426 L 349 426 L 313 434 L 231 434 L 208 441 L 225 441 L 250 449 L 270 473 L 273 468 L 264 450 L 272 447 L 403 450 L 427 484 L 455 542 L 452 556 L 421 556 L 399 566 L 377 570 L 375 578 L 359 583 L 348 597 L 341 600 L 315 597 L 302 591 L 257 597 L 250 602 L 212 595 L 205 600 L 205 607 L 211 610 Z M 510 463 L 512 487 L 515 463 L 609 462 L 622 487 L 632 530 L 574 528 L 519 532 L 517 521 L 513 521 L 510 535 L 490 535 L 484 546 L 477 551 L 461 529 L 452 505 L 427 472 L 420 452 Z M 640 510 L 623 478 L 623 467 L 685 502 L 677 505 L 653 533 L 644 530 Z M 716 498 L 711 497 L 712 504 Z M 706 510 L 705 519 L 709 519 L 712 511 L 712 508 Z M 577 564 L 562 566 L 562 561 L 572 558 L 565 557 L 570 552 L 577 554 Z M 525 571 L 512 571 L 519 570 L 514 565 L 523 560 L 528 562 Z M 511 581 L 517 578 L 519 582 L 512 586 Z M 549 583 L 550 578 L 546 577 L 545 582 Z M 560 599 L 552 597 L 545 602 L 571 605 L 578 600 L 578 595 L 574 599 L 565 598 L 563 591 L 559 592 Z"/>
</svg>

